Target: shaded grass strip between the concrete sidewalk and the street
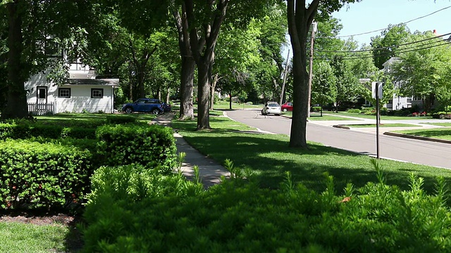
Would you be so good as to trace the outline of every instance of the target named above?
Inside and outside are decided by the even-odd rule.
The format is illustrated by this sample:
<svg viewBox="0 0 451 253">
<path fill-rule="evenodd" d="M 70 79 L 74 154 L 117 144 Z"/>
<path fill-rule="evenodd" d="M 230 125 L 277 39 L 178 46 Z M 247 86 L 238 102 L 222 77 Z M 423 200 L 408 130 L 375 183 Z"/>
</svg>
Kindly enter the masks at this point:
<svg viewBox="0 0 451 253">
<path fill-rule="evenodd" d="M 194 131 L 196 122 L 173 121 L 173 127 L 188 143 L 204 155 L 223 164 L 226 159 L 235 167 L 252 171 L 261 187 L 278 188 L 286 171 L 290 171 L 295 183 L 322 192 L 326 186 L 324 173 L 332 175 L 340 193 L 347 183 L 361 187 L 366 182 L 376 182 L 376 171 L 371 157 L 358 155 L 320 143 L 309 143 L 309 149 L 289 148 L 289 137 L 278 134 L 248 134 L 230 131 L 238 125 L 230 119 L 211 117 L 209 131 Z M 437 176 L 451 179 L 451 170 L 409 164 L 392 160 L 379 160 L 388 184 L 408 189 L 408 176 L 414 173 L 424 178 L 424 186 L 433 192 Z"/>
</svg>

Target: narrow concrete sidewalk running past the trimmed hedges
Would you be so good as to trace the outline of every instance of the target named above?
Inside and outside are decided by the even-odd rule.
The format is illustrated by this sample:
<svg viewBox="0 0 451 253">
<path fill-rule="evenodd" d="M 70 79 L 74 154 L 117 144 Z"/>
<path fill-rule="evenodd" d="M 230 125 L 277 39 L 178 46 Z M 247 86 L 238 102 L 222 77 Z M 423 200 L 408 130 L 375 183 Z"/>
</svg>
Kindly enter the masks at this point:
<svg viewBox="0 0 451 253">
<path fill-rule="evenodd" d="M 154 124 L 171 127 L 171 119 L 173 119 L 173 117 L 173 112 L 166 112 L 163 115 L 158 115 L 152 122 Z M 174 138 L 175 145 L 177 146 L 177 153 L 184 152 L 186 154 L 181 171 L 187 179 L 191 180 L 193 178 L 194 165 L 199 167 L 199 176 L 204 188 L 209 188 L 210 186 L 220 183 L 221 176 L 226 176 L 226 178 L 230 177 L 230 172 L 221 164 L 218 164 L 218 162 L 199 153 L 199 151 L 185 141 L 183 136 L 174 133 Z"/>
</svg>

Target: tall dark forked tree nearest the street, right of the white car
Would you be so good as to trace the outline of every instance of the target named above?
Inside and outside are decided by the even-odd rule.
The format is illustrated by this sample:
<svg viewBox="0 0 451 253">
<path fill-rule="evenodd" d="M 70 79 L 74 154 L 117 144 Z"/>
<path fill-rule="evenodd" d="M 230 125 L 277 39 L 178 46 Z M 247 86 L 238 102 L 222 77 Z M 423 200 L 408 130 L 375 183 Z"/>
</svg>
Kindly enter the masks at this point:
<svg viewBox="0 0 451 253">
<path fill-rule="evenodd" d="M 359 0 L 288 0 L 288 33 L 293 50 L 293 108 L 290 147 L 307 148 L 307 108 L 309 98 L 307 74 L 307 37 L 317 13 L 318 18 L 338 11 L 343 4 Z"/>
</svg>

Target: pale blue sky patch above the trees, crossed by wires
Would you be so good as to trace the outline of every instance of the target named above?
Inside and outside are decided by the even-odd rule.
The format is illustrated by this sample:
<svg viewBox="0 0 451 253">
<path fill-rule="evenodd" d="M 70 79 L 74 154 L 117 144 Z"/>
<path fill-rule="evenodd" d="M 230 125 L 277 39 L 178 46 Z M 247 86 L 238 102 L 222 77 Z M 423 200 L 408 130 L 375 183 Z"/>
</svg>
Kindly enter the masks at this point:
<svg viewBox="0 0 451 253">
<path fill-rule="evenodd" d="M 333 17 L 340 19 L 343 25 L 339 36 L 347 36 L 380 30 L 390 24 L 407 22 L 450 6 L 451 0 L 435 0 L 435 3 L 433 0 L 362 0 L 359 3 L 350 4 L 348 9 L 344 7 L 333 13 Z M 450 33 L 451 8 L 408 22 L 406 25 L 411 32 L 437 30 L 438 34 Z M 371 37 L 380 34 L 381 31 L 356 35 L 354 39 L 359 41 L 360 45 L 368 45 Z"/>
</svg>

